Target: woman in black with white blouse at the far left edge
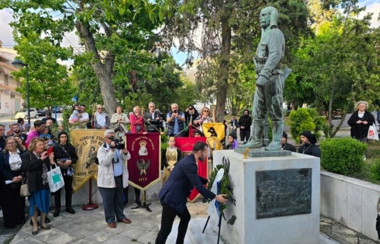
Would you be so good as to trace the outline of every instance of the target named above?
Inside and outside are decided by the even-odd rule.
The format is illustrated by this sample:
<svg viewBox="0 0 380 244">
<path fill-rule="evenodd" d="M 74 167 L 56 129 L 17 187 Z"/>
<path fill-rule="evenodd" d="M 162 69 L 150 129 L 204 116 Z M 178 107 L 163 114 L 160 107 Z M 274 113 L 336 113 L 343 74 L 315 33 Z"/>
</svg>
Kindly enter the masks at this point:
<svg viewBox="0 0 380 244">
<path fill-rule="evenodd" d="M 5 149 L 0 153 L 0 172 L 7 184 L 3 188 L 3 216 L 4 225 L 15 228 L 16 224 L 25 223 L 25 197 L 20 197 L 20 189 L 23 180 L 21 169 L 22 149 L 14 137 L 8 137 L 5 141 Z"/>
</svg>

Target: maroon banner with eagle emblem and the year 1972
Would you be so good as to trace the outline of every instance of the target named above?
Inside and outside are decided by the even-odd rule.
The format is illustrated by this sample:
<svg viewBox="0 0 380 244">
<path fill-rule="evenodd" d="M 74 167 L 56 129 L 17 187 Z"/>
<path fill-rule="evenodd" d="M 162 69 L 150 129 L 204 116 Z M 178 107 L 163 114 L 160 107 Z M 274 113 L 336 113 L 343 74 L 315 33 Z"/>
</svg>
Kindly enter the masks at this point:
<svg viewBox="0 0 380 244">
<path fill-rule="evenodd" d="M 160 181 L 160 133 L 127 133 L 126 146 L 131 158 L 128 160 L 129 183 L 146 190 Z"/>
</svg>

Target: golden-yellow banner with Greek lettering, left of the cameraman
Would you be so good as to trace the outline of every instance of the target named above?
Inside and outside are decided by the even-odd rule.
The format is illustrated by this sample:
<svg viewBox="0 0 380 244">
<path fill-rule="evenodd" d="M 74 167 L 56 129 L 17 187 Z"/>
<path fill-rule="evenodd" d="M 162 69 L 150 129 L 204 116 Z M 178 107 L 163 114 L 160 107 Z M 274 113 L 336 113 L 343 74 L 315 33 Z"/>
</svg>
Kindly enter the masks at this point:
<svg viewBox="0 0 380 244">
<path fill-rule="evenodd" d="M 77 191 L 89 179 L 97 180 L 98 165 L 95 163 L 98 148 L 104 143 L 105 130 L 72 129 L 71 143 L 78 155 L 74 165 L 72 177 L 72 190 Z"/>
</svg>

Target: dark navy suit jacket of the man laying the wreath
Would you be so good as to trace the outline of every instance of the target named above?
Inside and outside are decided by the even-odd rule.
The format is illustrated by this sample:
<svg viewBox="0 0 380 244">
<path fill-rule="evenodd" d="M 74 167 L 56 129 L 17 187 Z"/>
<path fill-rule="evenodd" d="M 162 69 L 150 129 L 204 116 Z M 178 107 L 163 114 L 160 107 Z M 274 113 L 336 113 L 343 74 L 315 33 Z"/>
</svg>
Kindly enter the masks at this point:
<svg viewBox="0 0 380 244">
<path fill-rule="evenodd" d="M 215 194 L 206 189 L 207 179 L 200 177 L 194 154 L 184 157 L 176 163 L 165 185 L 162 187 L 159 198 L 176 211 L 183 213 L 186 209 L 187 197 L 193 186 L 208 200 L 213 200 Z M 203 182 L 202 182 L 202 181 Z"/>
</svg>

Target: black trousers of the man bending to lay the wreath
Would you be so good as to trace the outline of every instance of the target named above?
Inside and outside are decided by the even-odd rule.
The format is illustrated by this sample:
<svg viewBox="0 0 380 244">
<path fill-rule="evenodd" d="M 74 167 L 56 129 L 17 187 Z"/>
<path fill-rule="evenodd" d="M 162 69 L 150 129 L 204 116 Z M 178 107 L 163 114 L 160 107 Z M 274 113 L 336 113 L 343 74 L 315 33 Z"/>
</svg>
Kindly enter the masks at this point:
<svg viewBox="0 0 380 244">
<path fill-rule="evenodd" d="M 180 218 L 178 225 L 178 234 L 176 244 L 182 244 L 186 235 L 188 222 L 190 221 L 191 215 L 188 212 L 187 208 L 183 213 L 176 211 L 171 208 L 169 205 L 161 201 L 162 206 L 162 218 L 161 218 L 161 229 L 156 238 L 156 244 L 164 244 L 170 231 L 173 227 L 173 222 L 176 216 Z"/>
</svg>

